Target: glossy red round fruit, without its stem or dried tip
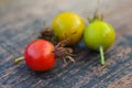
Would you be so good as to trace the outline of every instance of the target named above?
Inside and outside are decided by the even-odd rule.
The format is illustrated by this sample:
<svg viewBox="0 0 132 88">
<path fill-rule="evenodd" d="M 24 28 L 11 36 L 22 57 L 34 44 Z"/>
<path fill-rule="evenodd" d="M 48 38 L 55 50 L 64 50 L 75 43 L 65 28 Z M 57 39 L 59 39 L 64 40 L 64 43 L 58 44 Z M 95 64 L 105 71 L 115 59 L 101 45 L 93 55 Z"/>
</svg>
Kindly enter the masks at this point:
<svg viewBox="0 0 132 88">
<path fill-rule="evenodd" d="M 37 72 L 52 69 L 56 63 L 54 50 L 54 45 L 48 41 L 35 40 L 31 42 L 24 52 L 26 65 Z"/>
</svg>

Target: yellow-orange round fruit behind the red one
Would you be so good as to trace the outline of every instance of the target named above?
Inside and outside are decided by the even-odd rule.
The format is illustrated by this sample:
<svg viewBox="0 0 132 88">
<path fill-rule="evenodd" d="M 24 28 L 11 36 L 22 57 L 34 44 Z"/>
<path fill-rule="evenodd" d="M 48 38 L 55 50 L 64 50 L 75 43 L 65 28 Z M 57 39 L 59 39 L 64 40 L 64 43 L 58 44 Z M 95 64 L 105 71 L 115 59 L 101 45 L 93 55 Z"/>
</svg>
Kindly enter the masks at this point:
<svg viewBox="0 0 132 88">
<path fill-rule="evenodd" d="M 81 40 L 85 29 L 85 21 L 72 12 L 64 12 L 56 15 L 52 22 L 52 30 L 58 41 L 64 41 L 70 37 L 67 45 L 76 44 Z"/>
</svg>

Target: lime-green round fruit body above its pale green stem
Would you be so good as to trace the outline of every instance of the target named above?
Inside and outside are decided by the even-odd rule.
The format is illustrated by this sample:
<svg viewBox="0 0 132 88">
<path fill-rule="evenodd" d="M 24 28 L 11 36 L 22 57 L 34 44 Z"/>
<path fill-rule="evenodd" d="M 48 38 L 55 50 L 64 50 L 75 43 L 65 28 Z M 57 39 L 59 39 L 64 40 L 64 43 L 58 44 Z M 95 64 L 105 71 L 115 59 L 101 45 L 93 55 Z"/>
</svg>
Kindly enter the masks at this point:
<svg viewBox="0 0 132 88">
<path fill-rule="evenodd" d="M 86 45 L 96 51 L 99 51 L 100 46 L 107 51 L 113 44 L 114 37 L 114 30 L 103 21 L 91 22 L 84 32 Z"/>
</svg>

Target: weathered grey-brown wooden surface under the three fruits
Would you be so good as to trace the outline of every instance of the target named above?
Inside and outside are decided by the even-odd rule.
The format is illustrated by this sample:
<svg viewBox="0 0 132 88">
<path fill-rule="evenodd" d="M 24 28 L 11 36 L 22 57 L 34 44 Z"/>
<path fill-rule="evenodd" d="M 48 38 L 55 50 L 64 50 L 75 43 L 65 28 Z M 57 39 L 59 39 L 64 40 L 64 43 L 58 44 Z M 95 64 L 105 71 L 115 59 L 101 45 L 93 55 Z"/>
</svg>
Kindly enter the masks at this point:
<svg viewBox="0 0 132 88">
<path fill-rule="evenodd" d="M 132 88 L 132 0 L 101 0 L 99 12 L 117 32 L 105 66 L 82 43 L 75 46 L 76 64 L 66 67 L 62 59 L 46 73 L 13 64 L 57 13 L 72 11 L 86 20 L 96 6 L 97 0 L 0 0 L 0 88 Z"/>
</svg>

